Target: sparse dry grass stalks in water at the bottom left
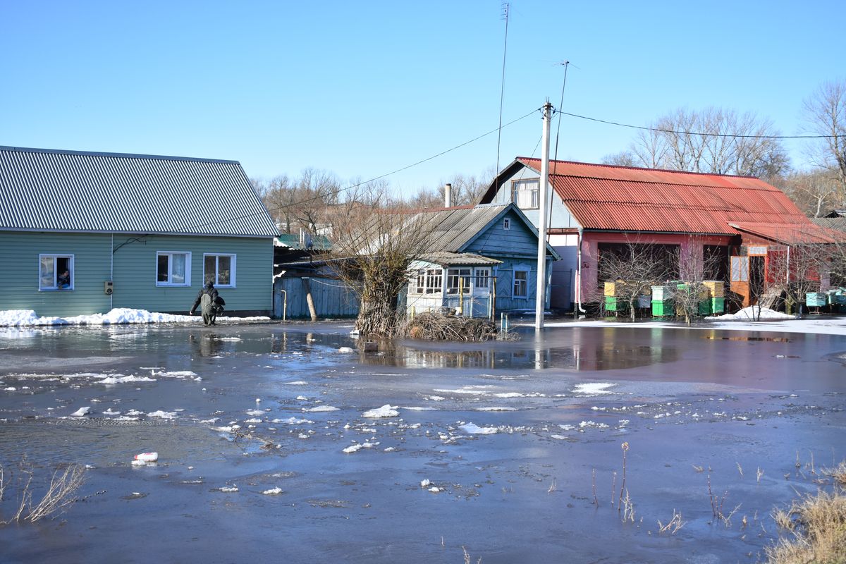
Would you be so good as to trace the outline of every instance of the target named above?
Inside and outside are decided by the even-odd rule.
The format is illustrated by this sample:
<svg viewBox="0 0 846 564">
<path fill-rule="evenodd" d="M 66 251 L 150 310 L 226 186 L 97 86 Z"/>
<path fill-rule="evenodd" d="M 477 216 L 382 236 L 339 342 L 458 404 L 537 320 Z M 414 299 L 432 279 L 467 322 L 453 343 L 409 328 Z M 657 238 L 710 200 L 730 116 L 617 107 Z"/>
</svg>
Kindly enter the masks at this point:
<svg viewBox="0 0 846 564">
<path fill-rule="evenodd" d="M 85 468 L 71 464 L 56 470 L 50 479 L 47 490 L 40 496 L 33 497 L 35 472 L 23 459 L 18 465 L 18 472 L 6 472 L 0 465 L 0 504 L 6 499 L 6 490 L 14 491 L 13 513 L 11 517 L 0 520 L 0 525 L 35 523 L 45 517 L 54 517 L 69 507 L 76 497 L 76 490 L 85 482 Z"/>
</svg>

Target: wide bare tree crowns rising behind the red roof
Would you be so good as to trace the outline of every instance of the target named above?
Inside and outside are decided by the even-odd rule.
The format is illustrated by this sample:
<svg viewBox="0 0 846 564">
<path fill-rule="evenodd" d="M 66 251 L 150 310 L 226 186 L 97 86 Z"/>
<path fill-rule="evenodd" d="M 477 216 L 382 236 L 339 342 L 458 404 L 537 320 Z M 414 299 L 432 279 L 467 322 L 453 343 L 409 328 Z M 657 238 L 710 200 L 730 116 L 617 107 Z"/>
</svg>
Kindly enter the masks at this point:
<svg viewBox="0 0 846 564">
<path fill-rule="evenodd" d="M 774 178 L 788 169 L 788 156 L 769 120 L 709 107 L 667 113 L 640 131 L 628 151 L 605 162 L 689 172 Z"/>
</svg>

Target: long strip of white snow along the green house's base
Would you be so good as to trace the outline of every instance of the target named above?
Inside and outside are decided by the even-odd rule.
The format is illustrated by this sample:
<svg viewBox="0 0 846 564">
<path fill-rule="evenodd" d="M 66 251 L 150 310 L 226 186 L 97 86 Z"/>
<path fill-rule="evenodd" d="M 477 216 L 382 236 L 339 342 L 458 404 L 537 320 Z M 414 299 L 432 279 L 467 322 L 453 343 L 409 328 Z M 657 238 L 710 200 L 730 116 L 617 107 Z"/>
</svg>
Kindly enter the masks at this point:
<svg viewBox="0 0 846 564">
<path fill-rule="evenodd" d="M 220 321 L 266 321 L 269 317 L 218 317 Z M 0 311 L 0 326 L 116 325 L 124 323 L 199 323 L 200 315 L 151 313 L 146 309 L 115 308 L 107 314 L 39 317 L 34 309 Z"/>
</svg>

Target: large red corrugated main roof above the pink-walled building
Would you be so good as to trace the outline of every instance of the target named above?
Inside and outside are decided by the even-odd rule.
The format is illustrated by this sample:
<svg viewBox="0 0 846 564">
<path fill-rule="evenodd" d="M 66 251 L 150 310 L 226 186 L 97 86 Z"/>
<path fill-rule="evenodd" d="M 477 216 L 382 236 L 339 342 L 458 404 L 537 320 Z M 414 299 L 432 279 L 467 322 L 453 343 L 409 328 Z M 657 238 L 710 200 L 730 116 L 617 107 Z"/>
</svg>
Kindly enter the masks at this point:
<svg viewBox="0 0 846 564">
<path fill-rule="evenodd" d="M 541 170 L 540 159 L 517 160 Z M 759 178 L 552 161 L 550 182 L 585 229 L 736 235 L 729 222 L 812 225 Z"/>
</svg>

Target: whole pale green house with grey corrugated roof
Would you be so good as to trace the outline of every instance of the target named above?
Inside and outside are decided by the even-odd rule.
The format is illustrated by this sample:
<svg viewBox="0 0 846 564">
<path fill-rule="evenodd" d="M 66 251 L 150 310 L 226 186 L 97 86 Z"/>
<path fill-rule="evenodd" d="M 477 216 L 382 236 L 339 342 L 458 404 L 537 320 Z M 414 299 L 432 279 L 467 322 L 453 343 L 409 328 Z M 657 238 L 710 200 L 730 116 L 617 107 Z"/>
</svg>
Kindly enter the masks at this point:
<svg viewBox="0 0 846 564">
<path fill-rule="evenodd" d="M 0 146 L 0 310 L 269 315 L 278 234 L 239 162 Z"/>
</svg>

